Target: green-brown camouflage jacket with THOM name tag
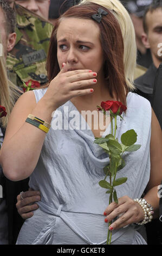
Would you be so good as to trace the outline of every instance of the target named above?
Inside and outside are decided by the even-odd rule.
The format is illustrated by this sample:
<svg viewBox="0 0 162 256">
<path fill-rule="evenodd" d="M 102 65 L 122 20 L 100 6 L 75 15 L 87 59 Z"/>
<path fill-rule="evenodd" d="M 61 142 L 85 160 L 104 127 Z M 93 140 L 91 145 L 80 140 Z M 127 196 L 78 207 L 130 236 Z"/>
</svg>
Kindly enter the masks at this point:
<svg viewBox="0 0 162 256">
<path fill-rule="evenodd" d="M 53 25 L 20 5 L 14 9 L 17 39 L 7 56 L 9 79 L 20 87 L 22 81 L 47 83 L 46 60 Z"/>
</svg>

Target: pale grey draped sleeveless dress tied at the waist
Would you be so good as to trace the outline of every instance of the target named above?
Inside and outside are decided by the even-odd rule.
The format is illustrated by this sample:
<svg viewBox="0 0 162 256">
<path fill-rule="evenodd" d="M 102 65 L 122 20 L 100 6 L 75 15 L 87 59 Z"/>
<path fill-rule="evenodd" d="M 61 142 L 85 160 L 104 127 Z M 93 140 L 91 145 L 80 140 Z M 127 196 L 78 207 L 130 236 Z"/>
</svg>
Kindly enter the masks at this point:
<svg viewBox="0 0 162 256">
<path fill-rule="evenodd" d="M 46 90 L 34 90 L 36 102 Z M 99 145 L 94 144 L 94 135 L 88 126 L 86 130 L 70 129 L 75 113 L 81 120 L 80 124 L 86 124 L 71 101 L 56 112 L 37 166 L 30 176 L 29 186 L 41 192 L 39 208 L 33 217 L 25 220 L 17 244 L 105 244 L 108 223 L 104 221 L 103 212 L 108 206 L 109 194 L 98 182 L 105 178 L 103 167 L 108 164 L 109 157 Z M 122 133 L 134 129 L 141 148 L 124 153 L 126 166 L 119 170 L 116 178 L 126 176 L 128 179 L 125 184 L 116 186 L 116 192 L 118 198 L 140 198 L 150 178 L 150 102 L 129 92 L 127 112 L 122 117 L 124 120 L 120 117 L 117 120 L 119 142 Z M 57 130 L 56 125 L 59 127 Z M 103 137 L 107 135 L 109 126 Z M 146 244 L 146 241 L 131 224 L 112 231 L 112 244 L 136 245 Z"/>
</svg>

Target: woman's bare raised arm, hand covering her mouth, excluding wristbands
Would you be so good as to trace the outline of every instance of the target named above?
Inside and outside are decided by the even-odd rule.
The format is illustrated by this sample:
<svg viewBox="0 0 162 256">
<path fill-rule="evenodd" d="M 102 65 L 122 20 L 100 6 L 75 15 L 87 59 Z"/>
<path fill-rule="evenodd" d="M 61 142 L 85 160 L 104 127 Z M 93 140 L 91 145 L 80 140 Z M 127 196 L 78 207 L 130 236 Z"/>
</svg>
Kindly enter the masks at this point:
<svg viewBox="0 0 162 256">
<path fill-rule="evenodd" d="M 34 92 L 25 93 L 18 99 L 0 151 L 0 163 L 8 179 L 17 181 L 30 176 L 41 153 L 46 133 L 25 122 L 28 114 L 50 123 L 53 111 L 72 97 L 92 94 L 89 87 L 94 84 L 93 78 L 93 72 L 89 70 L 66 72 L 63 66 L 38 103 Z"/>
</svg>

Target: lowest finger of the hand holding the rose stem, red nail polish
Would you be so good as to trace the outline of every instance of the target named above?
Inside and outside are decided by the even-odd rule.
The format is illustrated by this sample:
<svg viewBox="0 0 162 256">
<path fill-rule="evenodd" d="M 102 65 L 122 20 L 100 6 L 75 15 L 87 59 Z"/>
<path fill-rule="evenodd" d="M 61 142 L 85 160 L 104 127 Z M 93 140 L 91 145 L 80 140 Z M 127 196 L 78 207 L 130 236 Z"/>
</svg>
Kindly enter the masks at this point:
<svg viewBox="0 0 162 256">
<path fill-rule="evenodd" d="M 134 222 L 134 216 L 131 214 L 131 212 L 127 211 L 125 214 L 120 216 L 116 221 L 114 221 L 110 226 L 109 230 L 115 230 L 122 227 L 125 227 L 126 225 L 129 225 Z"/>
</svg>

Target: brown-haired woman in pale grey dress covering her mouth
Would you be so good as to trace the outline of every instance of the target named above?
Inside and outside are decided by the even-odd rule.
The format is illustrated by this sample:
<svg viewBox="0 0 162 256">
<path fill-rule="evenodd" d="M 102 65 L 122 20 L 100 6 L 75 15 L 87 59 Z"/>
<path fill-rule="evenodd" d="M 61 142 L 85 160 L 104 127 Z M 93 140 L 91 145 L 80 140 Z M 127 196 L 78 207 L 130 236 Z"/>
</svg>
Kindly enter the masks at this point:
<svg viewBox="0 0 162 256">
<path fill-rule="evenodd" d="M 24 222 L 17 244 L 103 244 L 106 222 L 120 214 L 109 227 L 112 244 L 146 243 L 133 225 L 144 219 L 133 198 L 146 189 L 145 200 L 158 210 L 161 130 L 150 103 L 129 92 L 124 43 L 114 11 L 94 3 L 66 11 L 51 35 L 47 68 L 48 87 L 25 93 L 17 101 L 1 151 L 4 174 L 11 180 L 30 176 L 29 186 L 41 192 L 39 209 Z M 98 185 L 109 161 L 94 144 L 100 128 L 89 124 L 91 130 L 81 129 L 82 124 L 88 126 L 82 111 L 92 112 L 107 100 L 127 105 L 125 121 L 117 121 L 116 136 L 131 127 L 142 145 L 137 152 L 126 153 L 126 167 L 117 175 L 126 175 L 128 181 L 118 188 L 119 203 L 109 206 L 108 194 Z M 81 120 L 76 129 L 74 113 L 76 123 Z"/>
</svg>

